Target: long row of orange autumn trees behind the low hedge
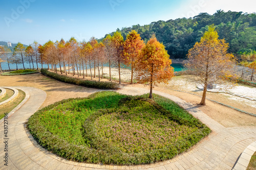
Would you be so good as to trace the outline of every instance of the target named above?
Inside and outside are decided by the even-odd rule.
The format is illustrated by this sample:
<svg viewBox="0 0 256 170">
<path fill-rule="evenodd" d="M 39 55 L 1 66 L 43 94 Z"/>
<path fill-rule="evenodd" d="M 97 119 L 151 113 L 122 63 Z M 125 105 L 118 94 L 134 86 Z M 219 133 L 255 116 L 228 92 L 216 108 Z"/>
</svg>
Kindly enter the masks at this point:
<svg viewBox="0 0 256 170">
<path fill-rule="evenodd" d="M 2 53 L 1 53 L 2 54 Z M 118 67 L 119 83 L 121 83 L 121 65 L 125 64 L 131 68 L 131 84 L 134 79 L 139 82 L 148 82 L 151 86 L 150 98 L 152 98 L 152 88 L 156 82 L 167 82 L 173 75 L 173 67 L 170 66 L 172 61 L 165 50 L 165 46 L 160 43 L 155 36 L 145 44 L 140 35 L 132 30 L 124 41 L 120 32 L 115 32 L 112 36 L 106 36 L 102 41 L 97 41 L 94 37 L 90 41 L 78 42 L 74 37 L 67 42 L 63 39 L 60 41 L 48 41 L 44 45 L 36 41 L 26 48 L 23 44 L 18 43 L 12 53 L 12 58 L 7 60 L 23 63 L 32 63 L 32 67 L 38 69 L 38 63 L 47 64 L 48 69 L 61 74 L 73 74 L 103 79 L 103 65 L 108 64 L 111 78 L 111 68 Z M 72 70 L 72 71 L 71 71 Z M 90 70 L 90 73 L 88 72 Z M 100 71 L 101 70 L 101 71 Z M 136 72 L 136 74 L 134 74 Z"/>
</svg>

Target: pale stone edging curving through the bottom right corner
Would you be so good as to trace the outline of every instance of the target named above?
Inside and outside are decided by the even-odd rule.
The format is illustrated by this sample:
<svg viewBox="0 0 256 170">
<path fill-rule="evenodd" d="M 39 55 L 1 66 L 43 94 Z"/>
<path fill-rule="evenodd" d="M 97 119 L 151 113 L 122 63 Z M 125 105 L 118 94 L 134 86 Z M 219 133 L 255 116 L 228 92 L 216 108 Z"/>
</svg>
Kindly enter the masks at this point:
<svg viewBox="0 0 256 170">
<path fill-rule="evenodd" d="M 233 166 L 233 170 L 246 170 L 249 162 L 251 160 L 251 156 L 256 152 L 256 141 L 252 142 L 248 147 L 243 151 L 243 153 L 239 156 L 236 164 Z"/>
</svg>

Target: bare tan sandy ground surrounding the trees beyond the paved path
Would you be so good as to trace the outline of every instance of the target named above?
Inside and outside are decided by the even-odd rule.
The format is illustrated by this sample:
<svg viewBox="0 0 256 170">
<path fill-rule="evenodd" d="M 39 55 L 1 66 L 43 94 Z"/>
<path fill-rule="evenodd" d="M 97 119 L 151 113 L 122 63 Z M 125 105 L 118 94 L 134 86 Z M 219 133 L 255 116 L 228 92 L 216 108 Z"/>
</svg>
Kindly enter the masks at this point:
<svg viewBox="0 0 256 170">
<path fill-rule="evenodd" d="M 108 74 L 107 69 L 103 69 L 104 74 Z M 115 69 L 113 69 L 114 71 Z M 125 72 L 123 77 L 129 79 L 129 71 L 123 70 Z M 126 73 L 127 72 L 127 73 Z M 116 72 L 113 73 L 115 77 L 118 76 Z M 72 75 L 70 75 L 72 76 Z M 108 75 L 106 75 L 108 76 Z M 77 75 L 75 76 L 77 77 Z M 88 78 L 90 79 L 90 78 Z M 94 79 L 98 80 L 98 78 Z M 103 81 L 108 81 L 103 79 Z M 24 76 L 0 76 L 0 86 L 29 86 L 42 89 L 47 93 L 47 99 L 45 103 L 41 106 L 45 107 L 57 101 L 69 98 L 84 98 L 99 91 L 98 89 L 86 88 L 77 85 L 62 83 L 41 74 L 32 74 Z M 149 87 L 142 84 L 130 85 L 127 83 L 122 83 L 121 86 L 126 87 L 127 89 L 133 89 L 133 87 L 141 87 L 148 90 Z M 241 85 L 242 86 L 242 85 Z M 245 86 L 243 86 L 245 87 Z M 255 91 L 256 88 L 246 87 L 246 90 Z M 154 90 L 162 91 L 169 93 L 179 98 L 189 102 L 191 104 L 197 105 L 201 101 L 202 91 L 196 88 L 196 84 L 185 79 L 184 76 L 179 76 L 173 78 L 169 84 L 159 84 L 158 87 L 155 87 Z M 176 91 L 180 90 L 180 91 Z M 193 94 L 189 94 L 189 93 Z M 138 92 L 139 93 L 139 92 Z M 250 92 L 249 92 L 250 93 Z M 254 95 L 254 94 L 253 94 Z M 253 96 L 252 96 L 253 97 Z M 215 100 L 221 103 L 224 103 L 229 106 L 236 107 L 238 109 L 256 114 L 256 102 L 249 101 L 247 99 L 233 99 L 234 97 L 229 94 L 223 93 L 211 93 L 207 92 L 207 98 Z M 254 96 L 256 98 L 256 96 Z M 229 107 L 217 104 L 215 102 L 206 101 L 206 106 L 198 106 L 204 113 L 210 116 L 212 119 L 215 119 L 217 122 L 222 124 L 225 127 L 239 127 L 239 126 L 256 126 L 256 117 L 236 111 Z"/>
</svg>

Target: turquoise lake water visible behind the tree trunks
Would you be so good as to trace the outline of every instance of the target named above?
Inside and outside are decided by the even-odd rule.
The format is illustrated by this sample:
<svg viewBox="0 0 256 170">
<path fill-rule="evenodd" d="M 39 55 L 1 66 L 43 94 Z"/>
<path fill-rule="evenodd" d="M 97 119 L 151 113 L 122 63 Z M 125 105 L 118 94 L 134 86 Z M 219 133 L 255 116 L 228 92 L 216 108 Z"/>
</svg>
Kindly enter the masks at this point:
<svg viewBox="0 0 256 170">
<path fill-rule="evenodd" d="M 3 70 L 9 70 L 8 64 L 6 62 L 1 63 Z M 30 68 L 29 63 L 24 63 L 25 68 Z M 48 68 L 47 64 L 42 64 L 44 68 Z M 174 63 L 171 65 L 174 67 L 174 71 L 181 71 L 184 67 L 182 64 Z M 36 63 L 34 63 L 34 67 L 36 68 Z M 38 64 L 39 69 L 41 69 L 41 64 Z M 10 64 L 11 69 L 16 69 L 16 64 Z M 31 64 L 31 68 L 33 68 Z M 23 69 L 23 64 L 18 64 L 18 69 Z"/>
</svg>

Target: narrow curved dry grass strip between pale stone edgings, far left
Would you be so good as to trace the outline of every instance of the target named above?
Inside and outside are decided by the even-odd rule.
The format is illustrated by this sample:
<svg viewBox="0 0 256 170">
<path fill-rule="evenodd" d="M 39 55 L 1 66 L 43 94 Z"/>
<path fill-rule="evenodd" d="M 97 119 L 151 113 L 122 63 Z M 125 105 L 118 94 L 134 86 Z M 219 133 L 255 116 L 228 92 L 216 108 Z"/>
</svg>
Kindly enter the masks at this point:
<svg viewBox="0 0 256 170">
<path fill-rule="evenodd" d="M 12 111 L 20 102 L 25 99 L 26 93 L 22 90 L 18 89 L 18 96 L 17 98 L 12 101 L 11 103 L 5 105 L 3 108 L 0 109 L 0 119 L 5 116 L 5 113 L 9 113 Z"/>
</svg>

